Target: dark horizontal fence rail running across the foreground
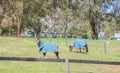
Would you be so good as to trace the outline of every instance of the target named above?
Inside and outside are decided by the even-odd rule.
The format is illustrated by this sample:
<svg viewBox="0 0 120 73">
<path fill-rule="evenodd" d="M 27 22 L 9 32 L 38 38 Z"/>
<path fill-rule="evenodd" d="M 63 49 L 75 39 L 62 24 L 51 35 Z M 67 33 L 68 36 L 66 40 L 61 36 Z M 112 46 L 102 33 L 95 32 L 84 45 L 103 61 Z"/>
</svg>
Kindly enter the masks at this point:
<svg viewBox="0 0 120 73">
<path fill-rule="evenodd" d="M 26 58 L 26 57 L 0 57 L 0 61 L 43 61 L 43 62 L 65 62 L 66 59 L 54 59 L 54 58 Z M 86 63 L 86 64 L 110 64 L 120 65 L 120 62 L 112 61 L 97 61 L 97 60 L 77 60 L 69 59 L 69 63 Z"/>
</svg>

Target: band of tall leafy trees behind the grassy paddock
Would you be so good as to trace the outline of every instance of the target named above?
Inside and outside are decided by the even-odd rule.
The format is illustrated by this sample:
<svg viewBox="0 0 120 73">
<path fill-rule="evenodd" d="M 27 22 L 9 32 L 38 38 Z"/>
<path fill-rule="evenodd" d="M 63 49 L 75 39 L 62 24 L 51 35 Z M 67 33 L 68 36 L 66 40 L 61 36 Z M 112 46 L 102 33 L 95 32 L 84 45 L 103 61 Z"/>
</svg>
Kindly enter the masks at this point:
<svg viewBox="0 0 120 73">
<path fill-rule="evenodd" d="M 119 16 L 103 13 L 102 2 L 103 0 L 1 0 L 3 13 L 1 12 L 0 31 L 5 25 L 1 26 L 4 20 L 10 19 L 7 25 L 18 34 L 30 29 L 37 33 L 88 35 L 89 38 L 97 39 L 98 33 L 106 29 L 102 26 L 109 24 L 110 27 L 111 21 L 116 21 L 114 29 L 119 31 Z"/>
</svg>

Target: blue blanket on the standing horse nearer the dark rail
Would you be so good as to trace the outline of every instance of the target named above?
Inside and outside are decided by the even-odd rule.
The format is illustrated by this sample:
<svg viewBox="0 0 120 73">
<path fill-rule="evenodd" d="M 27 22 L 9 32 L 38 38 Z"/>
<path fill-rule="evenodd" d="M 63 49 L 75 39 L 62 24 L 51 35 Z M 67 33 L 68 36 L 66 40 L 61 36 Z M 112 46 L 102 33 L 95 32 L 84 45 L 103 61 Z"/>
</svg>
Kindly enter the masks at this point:
<svg viewBox="0 0 120 73">
<path fill-rule="evenodd" d="M 58 45 L 55 42 L 44 42 L 40 40 L 38 47 L 41 53 L 58 52 Z"/>
</svg>

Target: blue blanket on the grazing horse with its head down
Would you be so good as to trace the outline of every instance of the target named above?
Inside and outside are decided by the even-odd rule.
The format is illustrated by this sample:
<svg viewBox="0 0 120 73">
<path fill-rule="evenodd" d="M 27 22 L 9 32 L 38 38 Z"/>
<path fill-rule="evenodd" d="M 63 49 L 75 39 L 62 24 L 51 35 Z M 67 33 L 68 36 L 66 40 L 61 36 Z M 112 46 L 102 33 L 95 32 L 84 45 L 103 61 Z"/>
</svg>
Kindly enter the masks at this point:
<svg viewBox="0 0 120 73">
<path fill-rule="evenodd" d="M 74 48 L 83 48 L 84 45 L 88 45 L 88 42 L 84 39 L 75 39 L 71 44 Z"/>
</svg>

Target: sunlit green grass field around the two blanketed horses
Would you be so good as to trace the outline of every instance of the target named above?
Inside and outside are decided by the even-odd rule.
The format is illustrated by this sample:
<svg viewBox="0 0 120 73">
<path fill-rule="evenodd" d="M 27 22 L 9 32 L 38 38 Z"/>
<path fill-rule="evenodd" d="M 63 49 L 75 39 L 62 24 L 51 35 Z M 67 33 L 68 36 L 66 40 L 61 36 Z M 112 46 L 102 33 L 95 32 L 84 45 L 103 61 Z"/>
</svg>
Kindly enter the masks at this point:
<svg viewBox="0 0 120 73">
<path fill-rule="evenodd" d="M 49 38 L 42 38 L 49 41 Z M 74 39 L 68 39 L 68 45 Z M 87 40 L 89 53 L 69 52 L 64 38 L 52 38 L 59 45 L 60 58 L 96 61 L 120 62 L 120 41 L 110 40 L 107 43 L 107 54 L 104 53 L 104 43 L 107 40 Z M 0 37 L 1 57 L 42 58 L 34 38 Z M 55 58 L 53 53 L 47 57 Z M 119 73 L 120 65 L 70 63 L 70 73 Z M 0 61 L 0 73 L 65 73 L 64 62 L 34 62 L 34 61 Z"/>
</svg>

